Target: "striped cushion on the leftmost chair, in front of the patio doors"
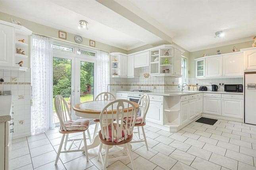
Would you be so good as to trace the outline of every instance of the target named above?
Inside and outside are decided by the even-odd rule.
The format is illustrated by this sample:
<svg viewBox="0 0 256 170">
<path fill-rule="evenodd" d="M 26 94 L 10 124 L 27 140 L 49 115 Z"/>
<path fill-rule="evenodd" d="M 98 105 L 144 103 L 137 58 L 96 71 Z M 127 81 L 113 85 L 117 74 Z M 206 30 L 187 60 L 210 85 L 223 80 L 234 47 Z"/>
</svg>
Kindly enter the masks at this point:
<svg viewBox="0 0 256 170">
<path fill-rule="evenodd" d="M 87 130 L 89 127 L 89 120 L 77 119 L 75 121 L 65 121 L 64 125 L 67 130 Z"/>
</svg>

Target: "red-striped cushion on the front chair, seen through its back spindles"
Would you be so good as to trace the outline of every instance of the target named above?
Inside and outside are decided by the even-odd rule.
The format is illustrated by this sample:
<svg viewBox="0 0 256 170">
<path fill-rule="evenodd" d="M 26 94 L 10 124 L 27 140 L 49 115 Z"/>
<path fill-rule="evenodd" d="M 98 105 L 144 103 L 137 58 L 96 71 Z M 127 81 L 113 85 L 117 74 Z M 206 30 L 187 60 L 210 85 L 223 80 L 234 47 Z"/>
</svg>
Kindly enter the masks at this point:
<svg viewBox="0 0 256 170">
<path fill-rule="evenodd" d="M 117 124 L 114 123 L 113 124 L 113 128 L 114 128 L 113 134 L 112 134 L 112 125 L 111 124 L 109 124 L 108 127 L 103 127 L 105 136 L 107 136 L 107 131 L 109 134 L 108 135 L 109 137 L 107 139 L 105 139 L 107 142 L 112 142 L 112 137 L 113 137 L 113 141 L 116 143 L 125 140 L 125 125 L 123 125 L 121 134 L 118 137 L 117 137 L 117 130 L 116 130 L 117 128 L 116 127 L 117 127 Z M 127 138 L 130 137 L 129 134 L 131 134 L 131 133 L 127 132 L 127 134 L 126 134 Z"/>
</svg>

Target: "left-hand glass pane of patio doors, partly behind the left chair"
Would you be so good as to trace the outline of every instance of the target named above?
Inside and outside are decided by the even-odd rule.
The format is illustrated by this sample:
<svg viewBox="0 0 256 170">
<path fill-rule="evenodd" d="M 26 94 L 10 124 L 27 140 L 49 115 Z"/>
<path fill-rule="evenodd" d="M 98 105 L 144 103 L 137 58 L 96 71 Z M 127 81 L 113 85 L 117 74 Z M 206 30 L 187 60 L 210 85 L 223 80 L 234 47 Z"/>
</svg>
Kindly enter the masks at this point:
<svg viewBox="0 0 256 170">
<path fill-rule="evenodd" d="M 71 60 L 53 57 L 53 98 L 61 95 L 71 111 Z M 54 99 L 53 99 L 54 102 Z M 59 123 L 53 103 L 54 123 Z"/>
</svg>

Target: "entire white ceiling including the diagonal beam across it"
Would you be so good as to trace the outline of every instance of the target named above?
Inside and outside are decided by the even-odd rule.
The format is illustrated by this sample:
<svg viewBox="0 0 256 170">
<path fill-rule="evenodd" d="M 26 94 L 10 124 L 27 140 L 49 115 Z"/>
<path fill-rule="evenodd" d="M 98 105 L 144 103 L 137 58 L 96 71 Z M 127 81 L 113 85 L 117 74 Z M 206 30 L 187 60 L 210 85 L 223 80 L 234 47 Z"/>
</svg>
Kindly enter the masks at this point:
<svg viewBox="0 0 256 170">
<path fill-rule="evenodd" d="M 4 13 L 125 50 L 171 39 L 188 51 L 252 40 L 255 6 L 255 0 L 0 0 Z M 81 19 L 88 31 L 77 28 Z M 214 38 L 219 30 L 224 38 Z"/>
</svg>

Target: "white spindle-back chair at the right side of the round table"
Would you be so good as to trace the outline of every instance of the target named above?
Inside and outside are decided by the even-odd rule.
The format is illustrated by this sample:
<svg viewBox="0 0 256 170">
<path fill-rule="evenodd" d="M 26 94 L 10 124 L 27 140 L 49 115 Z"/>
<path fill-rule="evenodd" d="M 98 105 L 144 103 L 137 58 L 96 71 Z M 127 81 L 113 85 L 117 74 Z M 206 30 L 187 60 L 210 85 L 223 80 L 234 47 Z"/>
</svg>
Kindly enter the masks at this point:
<svg viewBox="0 0 256 170">
<path fill-rule="evenodd" d="M 148 150 L 148 143 L 146 140 L 146 134 L 145 134 L 143 126 L 146 125 L 145 119 L 146 119 L 146 114 L 147 114 L 148 108 L 149 108 L 149 102 L 150 102 L 150 100 L 149 100 L 148 94 L 143 94 L 138 102 L 138 104 L 140 105 L 139 111 L 140 111 L 141 115 L 137 116 L 137 119 L 135 121 L 135 127 L 138 128 L 138 132 L 133 132 L 133 133 L 138 133 L 139 140 L 130 142 L 130 143 L 145 142 L 147 150 Z M 143 133 L 143 137 L 144 137 L 143 140 L 141 140 L 141 137 L 140 137 L 139 127 L 142 128 L 142 133 Z"/>
</svg>

